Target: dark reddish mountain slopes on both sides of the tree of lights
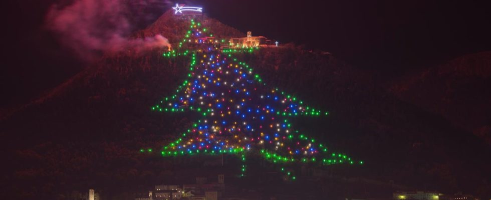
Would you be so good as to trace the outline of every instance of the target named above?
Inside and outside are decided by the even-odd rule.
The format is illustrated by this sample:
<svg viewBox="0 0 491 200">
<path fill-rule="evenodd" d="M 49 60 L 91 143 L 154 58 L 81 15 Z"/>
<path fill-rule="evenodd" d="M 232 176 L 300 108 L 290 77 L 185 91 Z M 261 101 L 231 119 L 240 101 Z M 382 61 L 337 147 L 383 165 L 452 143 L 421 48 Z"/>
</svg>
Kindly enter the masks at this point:
<svg viewBox="0 0 491 200">
<path fill-rule="evenodd" d="M 244 35 L 215 19 L 201 20 L 218 38 Z M 132 36 L 162 34 L 175 46 L 187 26 L 188 20 L 167 11 Z M 172 160 L 138 152 L 142 147 L 159 149 L 195 119 L 150 110 L 186 74 L 189 60 L 163 57 L 165 50 L 106 52 L 96 64 L 0 121 L 0 134 L 10 141 L 2 146 L 10 160 L 2 192 L 68 199 L 67 191 L 97 187 L 117 196 L 121 190 L 135 190 L 135 184 L 144 188 L 177 179 L 180 169 Z M 363 167 L 331 168 L 328 179 L 352 186 L 333 191 L 334 197 L 367 194 L 366 187 L 371 188 L 367 195 L 381 195 L 396 188 L 421 188 L 421 182 L 442 192 L 489 195 L 491 163 L 486 158 L 491 150 L 471 131 L 489 126 L 488 114 L 477 108 L 490 109 L 485 102 L 491 96 L 469 96 L 489 91 L 484 85 L 489 85 L 490 57 L 481 53 L 458 58 L 387 90 L 374 74 L 294 44 L 240 56 L 268 84 L 330 111 L 327 118 L 295 119 L 302 130 L 331 149 L 366 160 Z M 480 88 L 469 93 L 469 87 Z M 434 95 L 422 98 L 419 92 Z M 436 110 L 428 108 L 434 104 Z M 461 114 L 464 111 L 467 115 Z"/>
</svg>

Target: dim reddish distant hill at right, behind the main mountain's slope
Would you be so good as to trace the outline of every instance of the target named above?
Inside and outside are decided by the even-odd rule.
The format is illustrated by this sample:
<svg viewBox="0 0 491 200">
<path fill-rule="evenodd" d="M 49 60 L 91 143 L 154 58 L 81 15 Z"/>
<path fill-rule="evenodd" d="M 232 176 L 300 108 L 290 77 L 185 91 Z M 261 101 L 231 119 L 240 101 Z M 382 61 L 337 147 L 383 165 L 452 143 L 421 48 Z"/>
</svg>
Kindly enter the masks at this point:
<svg viewBox="0 0 491 200">
<path fill-rule="evenodd" d="M 401 99 L 448 118 L 491 144 L 491 51 L 464 55 L 396 82 Z"/>
</svg>

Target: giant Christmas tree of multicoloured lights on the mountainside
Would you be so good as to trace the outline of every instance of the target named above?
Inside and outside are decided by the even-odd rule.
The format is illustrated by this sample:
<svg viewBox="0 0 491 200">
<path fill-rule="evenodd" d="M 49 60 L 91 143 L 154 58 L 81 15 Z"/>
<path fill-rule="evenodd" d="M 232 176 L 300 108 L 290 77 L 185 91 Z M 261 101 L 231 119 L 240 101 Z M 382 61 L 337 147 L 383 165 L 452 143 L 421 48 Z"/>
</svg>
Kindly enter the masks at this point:
<svg viewBox="0 0 491 200">
<path fill-rule="evenodd" d="M 201 118 L 164 146 L 163 156 L 237 154 L 243 161 L 240 176 L 246 174 L 246 155 L 257 154 L 277 163 L 290 180 L 288 169 L 295 163 L 363 164 L 299 132 L 291 119 L 319 117 L 329 112 L 306 104 L 297 96 L 267 85 L 253 67 L 233 56 L 235 51 L 220 49 L 228 41 L 211 37 L 208 28 L 191 19 L 189 30 L 177 49 L 165 57 L 189 56 L 187 79 L 175 93 L 151 107 L 154 111 L 199 113 Z M 245 49 L 252 51 L 257 48 Z M 141 149 L 146 152 L 151 149 Z"/>
</svg>

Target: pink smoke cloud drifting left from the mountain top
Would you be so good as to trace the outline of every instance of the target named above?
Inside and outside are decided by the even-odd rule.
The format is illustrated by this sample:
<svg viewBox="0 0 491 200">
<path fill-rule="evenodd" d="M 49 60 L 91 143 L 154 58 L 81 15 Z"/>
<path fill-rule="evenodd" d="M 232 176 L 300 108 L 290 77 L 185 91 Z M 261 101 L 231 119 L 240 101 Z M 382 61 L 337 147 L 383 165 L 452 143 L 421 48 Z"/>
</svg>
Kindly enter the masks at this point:
<svg viewBox="0 0 491 200">
<path fill-rule="evenodd" d="M 142 1 L 145 0 L 139 3 Z M 130 6 L 128 0 L 75 0 L 67 6 L 55 4 L 47 14 L 47 26 L 59 34 L 64 45 L 86 60 L 94 60 L 103 52 L 170 47 L 161 34 L 128 38 L 132 31 L 128 18 L 132 14 Z"/>
</svg>

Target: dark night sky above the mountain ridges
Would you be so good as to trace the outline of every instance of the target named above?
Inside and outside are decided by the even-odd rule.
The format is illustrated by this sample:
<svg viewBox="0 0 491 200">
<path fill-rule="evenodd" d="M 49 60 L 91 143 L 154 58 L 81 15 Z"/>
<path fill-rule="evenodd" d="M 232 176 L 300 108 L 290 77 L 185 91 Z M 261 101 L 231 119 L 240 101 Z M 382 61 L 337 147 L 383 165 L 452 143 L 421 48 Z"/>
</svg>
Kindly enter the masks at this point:
<svg viewBox="0 0 491 200">
<path fill-rule="evenodd" d="M 9 0 L 3 20 L 0 108 L 25 102 L 75 74 L 83 63 L 44 29 L 55 0 Z M 181 1 L 182 2 L 182 1 Z M 491 7 L 441 0 L 203 0 L 205 12 L 241 31 L 329 51 L 386 78 L 466 53 L 491 50 Z M 173 3 L 167 1 L 167 3 Z M 149 5 L 145 27 L 165 11 Z"/>
</svg>

